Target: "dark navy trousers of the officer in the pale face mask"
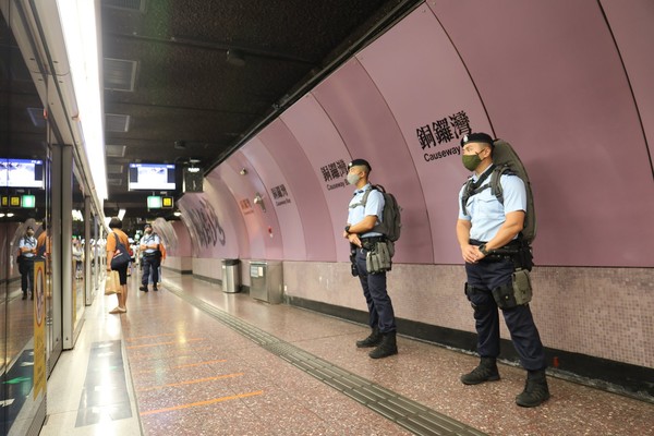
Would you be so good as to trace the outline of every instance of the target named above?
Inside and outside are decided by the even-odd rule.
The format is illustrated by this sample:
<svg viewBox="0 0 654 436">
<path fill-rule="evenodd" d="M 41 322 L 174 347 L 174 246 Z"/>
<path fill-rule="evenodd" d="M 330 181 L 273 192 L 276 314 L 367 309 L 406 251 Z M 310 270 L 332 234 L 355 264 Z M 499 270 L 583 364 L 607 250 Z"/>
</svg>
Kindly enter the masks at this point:
<svg viewBox="0 0 654 436">
<path fill-rule="evenodd" d="M 363 295 L 368 306 L 368 325 L 372 328 L 378 326 L 383 334 L 396 331 L 395 312 L 390 296 L 386 292 L 386 272 L 367 274 L 366 253 L 363 249 L 356 249 L 355 262 Z"/>
</svg>

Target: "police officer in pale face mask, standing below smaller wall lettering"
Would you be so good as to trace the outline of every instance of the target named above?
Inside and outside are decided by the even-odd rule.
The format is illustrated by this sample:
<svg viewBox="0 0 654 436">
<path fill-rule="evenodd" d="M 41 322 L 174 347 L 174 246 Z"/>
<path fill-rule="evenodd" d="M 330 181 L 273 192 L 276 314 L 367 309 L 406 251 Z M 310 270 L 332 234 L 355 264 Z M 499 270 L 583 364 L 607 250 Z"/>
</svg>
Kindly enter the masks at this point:
<svg viewBox="0 0 654 436">
<path fill-rule="evenodd" d="M 386 290 L 386 271 L 368 274 L 366 268 L 366 254 L 384 240 L 382 233 L 373 231 L 383 217 L 384 195 L 372 189 L 368 182 L 371 166 L 366 160 L 354 159 L 348 168 L 348 183 L 356 186 L 356 190 L 350 201 L 343 238 L 350 241 L 354 253 L 354 267 L 368 306 L 368 325 L 373 330 L 367 338 L 356 341 L 356 347 L 376 347 L 368 355 L 380 359 L 398 353 L 395 312 Z M 368 190 L 367 201 L 363 205 L 362 199 Z"/>
</svg>

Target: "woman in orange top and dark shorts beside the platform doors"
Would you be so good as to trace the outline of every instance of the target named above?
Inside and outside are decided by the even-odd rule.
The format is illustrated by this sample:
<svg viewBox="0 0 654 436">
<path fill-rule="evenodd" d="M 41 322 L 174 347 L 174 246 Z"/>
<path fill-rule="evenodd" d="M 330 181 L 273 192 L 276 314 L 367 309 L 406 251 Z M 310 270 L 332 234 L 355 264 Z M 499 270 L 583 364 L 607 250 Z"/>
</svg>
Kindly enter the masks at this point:
<svg viewBox="0 0 654 436">
<path fill-rule="evenodd" d="M 130 265 L 130 238 L 121 230 L 122 221 L 112 217 L 109 221 L 111 233 L 107 235 L 107 271 L 116 270 L 120 276 L 121 292 L 116 293 L 118 306 L 110 314 L 122 314 L 128 312 L 128 267 Z"/>
</svg>

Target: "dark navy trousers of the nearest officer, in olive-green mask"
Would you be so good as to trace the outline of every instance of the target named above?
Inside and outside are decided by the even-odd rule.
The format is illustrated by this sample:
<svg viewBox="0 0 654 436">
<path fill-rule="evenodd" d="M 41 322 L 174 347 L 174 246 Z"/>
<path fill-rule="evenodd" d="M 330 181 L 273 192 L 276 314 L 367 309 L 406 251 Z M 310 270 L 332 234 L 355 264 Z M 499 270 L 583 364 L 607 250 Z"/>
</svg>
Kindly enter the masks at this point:
<svg viewBox="0 0 654 436">
<path fill-rule="evenodd" d="M 499 355 L 499 315 L 491 290 L 511 282 L 513 263 L 505 259 L 465 264 L 465 272 L 468 274 L 468 284 L 475 288 L 474 292 L 469 295 L 469 300 L 476 307 L 474 319 L 479 336 L 477 352 L 482 358 L 497 358 Z M 529 371 L 544 370 L 547 366 L 545 352 L 529 304 L 505 308 L 502 314 L 522 366 Z"/>
</svg>

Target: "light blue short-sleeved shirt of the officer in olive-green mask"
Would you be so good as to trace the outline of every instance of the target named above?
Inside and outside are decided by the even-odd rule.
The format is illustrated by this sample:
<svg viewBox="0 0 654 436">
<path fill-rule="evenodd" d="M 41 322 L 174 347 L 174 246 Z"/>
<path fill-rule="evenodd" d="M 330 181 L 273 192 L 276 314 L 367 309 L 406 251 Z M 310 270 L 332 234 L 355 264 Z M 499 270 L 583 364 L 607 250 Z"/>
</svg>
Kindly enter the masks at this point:
<svg viewBox="0 0 654 436">
<path fill-rule="evenodd" d="M 489 169 L 491 167 L 487 170 Z M 472 180 L 473 182 L 479 180 L 476 173 L 472 174 Z M 482 186 L 489 183 L 491 177 L 482 183 Z M 526 211 L 526 191 L 522 179 L 518 175 L 504 174 L 499 179 L 499 183 L 504 190 L 504 206 L 491 192 L 491 187 L 487 187 L 468 198 L 465 205 L 468 215 L 463 215 L 461 207 L 461 197 L 465 185 L 459 191 L 459 219 L 471 221 L 470 239 L 488 242 L 495 238 L 497 231 L 506 221 L 506 214 L 517 210 Z M 516 238 L 518 235 L 513 239 Z"/>
</svg>

